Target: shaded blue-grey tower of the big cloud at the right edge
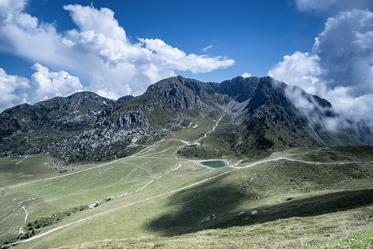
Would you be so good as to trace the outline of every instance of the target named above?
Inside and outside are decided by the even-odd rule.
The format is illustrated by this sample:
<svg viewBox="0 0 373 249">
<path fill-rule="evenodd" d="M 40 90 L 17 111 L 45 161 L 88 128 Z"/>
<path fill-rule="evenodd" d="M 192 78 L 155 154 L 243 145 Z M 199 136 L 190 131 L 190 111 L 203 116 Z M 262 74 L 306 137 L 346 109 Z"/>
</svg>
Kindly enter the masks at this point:
<svg viewBox="0 0 373 249">
<path fill-rule="evenodd" d="M 331 17 L 317 37 L 312 52 L 330 87 L 349 86 L 355 96 L 373 92 L 373 13 L 343 11 Z"/>
</svg>

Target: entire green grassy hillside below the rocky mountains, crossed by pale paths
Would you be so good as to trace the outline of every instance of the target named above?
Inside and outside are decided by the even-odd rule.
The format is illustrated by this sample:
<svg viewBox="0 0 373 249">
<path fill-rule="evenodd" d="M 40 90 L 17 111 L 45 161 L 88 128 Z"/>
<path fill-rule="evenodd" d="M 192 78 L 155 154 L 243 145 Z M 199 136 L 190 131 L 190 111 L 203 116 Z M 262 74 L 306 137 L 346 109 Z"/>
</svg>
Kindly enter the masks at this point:
<svg viewBox="0 0 373 249">
<path fill-rule="evenodd" d="M 232 155 L 230 167 L 212 169 L 176 152 L 190 148 L 178 139 L 212 130 L 217 119 L 206 120 L 63 175 L 48 155 L 2 159 L 1 185 L 13 187 L 0 190 L 0 243 L 33 233 L 17 248 L 300 248 L 351 234 L 370 243 L 373 147 L 294 148 L 257 162 Z"/>
</svg>

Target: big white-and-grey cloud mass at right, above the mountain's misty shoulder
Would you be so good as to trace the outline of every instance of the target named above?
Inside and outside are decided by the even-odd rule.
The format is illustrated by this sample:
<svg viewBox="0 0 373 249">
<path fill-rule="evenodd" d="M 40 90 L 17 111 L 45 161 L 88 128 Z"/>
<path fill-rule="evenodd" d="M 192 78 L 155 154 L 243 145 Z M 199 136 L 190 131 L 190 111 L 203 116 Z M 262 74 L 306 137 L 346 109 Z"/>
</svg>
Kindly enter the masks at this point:
<svg viewBox="0 0 373 249">
<path fill-rule="evenodd" d="M 268 75 L 327 99 L 344 115 L 373 119 L 373 13 L 342 11 L 330 17 L 312 54 L 284 56 Z"/>
</svg>

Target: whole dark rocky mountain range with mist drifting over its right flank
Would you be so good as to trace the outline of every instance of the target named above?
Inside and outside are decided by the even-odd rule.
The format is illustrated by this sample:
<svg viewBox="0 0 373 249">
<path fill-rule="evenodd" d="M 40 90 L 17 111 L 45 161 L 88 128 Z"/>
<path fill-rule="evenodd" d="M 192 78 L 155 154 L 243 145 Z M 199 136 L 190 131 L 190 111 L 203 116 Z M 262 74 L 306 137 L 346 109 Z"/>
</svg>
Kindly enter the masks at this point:
<svg viewBox="0 0 373 249">
<path fill-rule="evenodd" d="M 297 86 L 271 77 L 215 83 L 177 76 L 137 97 L 114 101 L 79 92 L 6 109 L 0 114 L 0 156 L 50 153 L 66 164 L 114 160 L 172 139 L 201 117 L 221 118 L 201 140 L 215 148 L 191 147 L 178 151 L 181 156 L 257 159 L 289 147 L 373 144 L 369 120 L 336 114 L 328 100 Z"/>
</svg>

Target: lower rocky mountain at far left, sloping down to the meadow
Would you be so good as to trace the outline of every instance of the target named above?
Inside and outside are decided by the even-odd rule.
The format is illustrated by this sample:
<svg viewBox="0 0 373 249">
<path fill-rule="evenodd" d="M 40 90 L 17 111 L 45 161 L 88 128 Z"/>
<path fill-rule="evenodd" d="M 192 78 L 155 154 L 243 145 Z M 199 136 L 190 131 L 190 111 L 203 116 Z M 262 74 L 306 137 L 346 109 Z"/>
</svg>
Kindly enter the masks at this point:
<svg viewBox="0 0 373 249">
<path fill-rule="evenodd" d="M 0 114 L 0 155 L 46 152 L 50 144 L 89 129 L 101 111 L 118 105 L 95 93 L 80 92 L 4 110 Z"/>
</svg>

